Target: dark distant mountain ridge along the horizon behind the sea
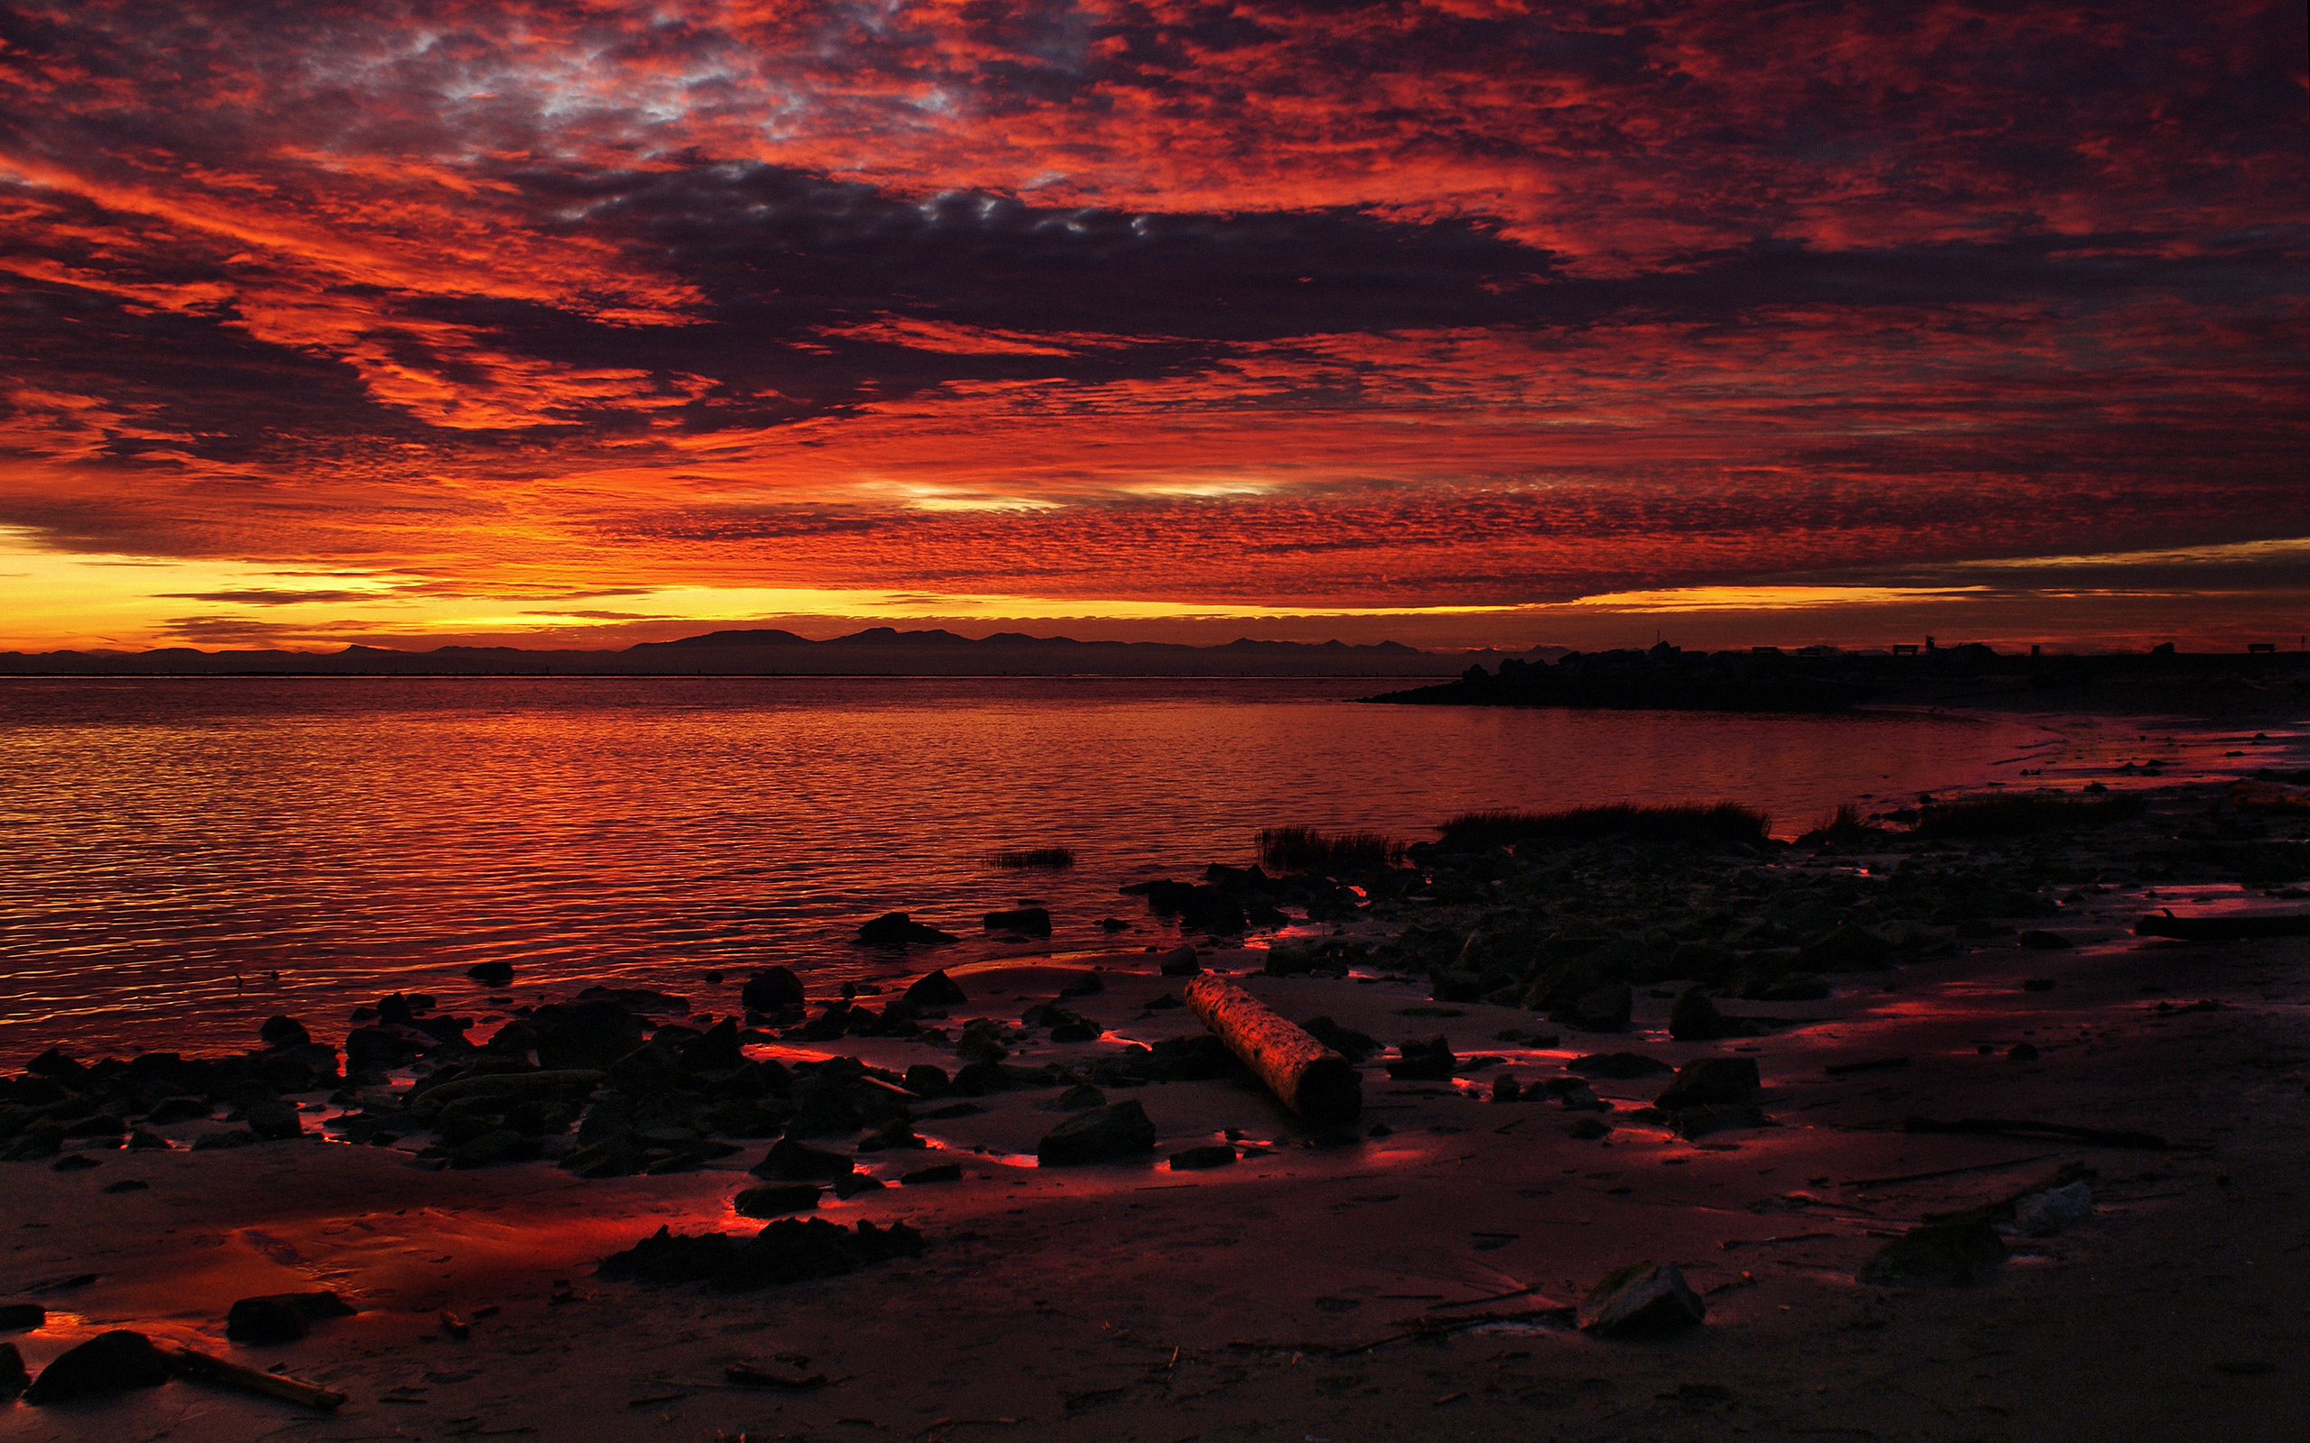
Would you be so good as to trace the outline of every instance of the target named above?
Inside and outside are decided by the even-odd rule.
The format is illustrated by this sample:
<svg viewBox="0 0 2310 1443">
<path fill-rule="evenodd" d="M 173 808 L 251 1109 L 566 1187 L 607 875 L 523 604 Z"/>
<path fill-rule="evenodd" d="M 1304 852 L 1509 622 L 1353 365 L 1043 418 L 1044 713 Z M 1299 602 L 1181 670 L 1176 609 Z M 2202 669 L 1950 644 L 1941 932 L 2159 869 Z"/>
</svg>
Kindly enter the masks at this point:
<svg viewBox="0 0 2310 1443">
<path fill-rule="evenodd" d="M 5 651 L 9 676 L 1458 676 L 1469 663 L 1536 651 L 1421 651 L 1402 642 L 1076 642 L 996 633 L 866 630 L 813 642 L 790 630 L 714 630 L 621 651 L 434 646 L 395 651 Z"/>
</svg>

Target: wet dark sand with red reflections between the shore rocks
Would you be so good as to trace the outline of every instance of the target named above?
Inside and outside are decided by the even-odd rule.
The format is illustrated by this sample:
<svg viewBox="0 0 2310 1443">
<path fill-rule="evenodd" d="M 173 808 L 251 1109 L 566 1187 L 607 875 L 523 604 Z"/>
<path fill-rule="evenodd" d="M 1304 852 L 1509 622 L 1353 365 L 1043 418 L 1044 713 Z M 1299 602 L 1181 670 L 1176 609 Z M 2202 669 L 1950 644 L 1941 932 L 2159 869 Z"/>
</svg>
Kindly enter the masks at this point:
<svg viewBox="0 0 2310 1443">
<path fill-rule="evenodd" d="M 2111 870 L 2134 870 L 2141 847 L 2197 827 L 2218 799 L 2164 785 L 2139 827 L 2063 852 L 2091 866 L 2123 850 Z M 1860 875 L 1887 861 L 1797 850 L 1744 866 Z M 1756 1039 L 1668 1039 L 1677 981 L 1638 988 L 1631 1032 L 1580 1034 L 1513 1007 L 1435 1002 L 1425 977 L 1282 979 L 1259 974 L 1259 951 L 1215 951 L 1206 967 L 1240 972 L 1284 1016 L 1333 1016 L 1391 1044 L 1386 1055 L 1444 1032 L 1465 1067 L 1398 1083 L 1374 1057 L 1363 1127 L 1386 1134 L 1321 1147 L 1257 1085 L 1109 1090 L 1141 1101 L 1162 1143 L 1146 1161 L 1088 1168 L 1033 1166 L 1063 1117 L 1056 1090 L 989 1094 L 979 1115 L 917 1122 L 940 1147 L 929 1159 L 859 1157 L 885 1177 L 959 1159 L 961 1182 L 829 1194 L 820 1208 L 908 1221 L 929 1242 L 919 1258 L 737 1295 L 601 1281 L 594 1265 L 661 1224 L 751 1233 L 760 1224 L 728 1201 L 765 1143 L 693 1173 L 601 1182 L 550 1161 L 430 1171 L 409 1152 L 423 1136 L 92 1152 L 99 1166 L 79 1173 L 7 1164 L 0 1293 L 97 1274 L 37 1295 L 49 1325 L 9 1334 L 35 1371 L 95 1332 L 136 1328 L 349 1401 L 314 1415 L 176 1381 L 16 1404 L 0 1438 L 2301 1438 L 2310 940 L 2181 944 L 2128 928 L 2160 905 L 2303 903 L 2192 884 L 2188 861 L 2174 866 L 2044 887 L 2058 917 L 2014 926 L 2056 930 L 2065 951 L 1977 937 L 1834 974 L 1827 1000 L 1721 1002 L 1783 1018 Z M 1090 967 L 1106 988 L 1065 1004 L 1106 1037 L 1026 1044 L 1012 1062 L 1081 1067 L 1125 1039 L 1201 1030 L 1185 1009 L 1143 1009 L 1183 981 L 1155 977 L 1143 951 L 961 970 L 970 1004 L 954 1018 L 1016 1020 Z M 1504 1030 L 1557 1044 L 1497 1041 Z M 2017 1044 L 2037 1057 L 2010 1057 Z M 1601 1141 L 1573 1138 L 1587 1113 L 1555 1101 L 1488 1101 L 1504 1071 L 1532 1083 L 1603 1051 L 1756 1057 L 1774 1127 L 1682 1141 L 1638 1120 L 1659 1076 L 1596 1078 L 1615 1108 Z M 776 1053 L 954 1067 L 896 1039 Z M 1499 1062 L 1469 1067 L 1476 1055 Z M 1825 1071 L 1887 1057 L 1908 1062 Z M 2151 1131 L 2176 1147 L 1901 1131 L 1910 1113 Z M 1201 1173 L 1162 1166 L 1224 1129 L 1270 1152 Z M 2095 1168 L 2093 1217 L 2007 1238 L 1991 1281 L 1855 1281 L 1906 1226 L 2061 1164 Z M 150 1187 L 104 1191 L 122 1180 Z M 1707 1325 L 1594 1339 L 1552 1311 L 1635 1258 L 1684 1268 Z M 224 1339 L 236 1298 L 305 1288 L 363 1311 L 284 1346 Z M 471 1337 L 446 1337 L 444 1309 Z M 737 1388 L 723 1383 L 732 1362 L 829 1383 Z"/>
</svg>

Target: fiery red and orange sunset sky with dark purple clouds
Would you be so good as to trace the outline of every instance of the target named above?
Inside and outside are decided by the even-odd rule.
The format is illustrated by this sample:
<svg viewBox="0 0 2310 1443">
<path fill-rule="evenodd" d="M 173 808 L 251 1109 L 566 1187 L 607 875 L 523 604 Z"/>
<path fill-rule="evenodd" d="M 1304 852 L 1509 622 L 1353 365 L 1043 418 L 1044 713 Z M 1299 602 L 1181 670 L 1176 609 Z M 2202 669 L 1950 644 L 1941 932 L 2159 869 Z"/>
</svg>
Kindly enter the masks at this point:
<svg viewBox="0 0 2310 1443">
<path fill-rule="evenodd" d="M 0 649 L 2310 630 L 2305 12 L 0 7 Z"/>
</svg>

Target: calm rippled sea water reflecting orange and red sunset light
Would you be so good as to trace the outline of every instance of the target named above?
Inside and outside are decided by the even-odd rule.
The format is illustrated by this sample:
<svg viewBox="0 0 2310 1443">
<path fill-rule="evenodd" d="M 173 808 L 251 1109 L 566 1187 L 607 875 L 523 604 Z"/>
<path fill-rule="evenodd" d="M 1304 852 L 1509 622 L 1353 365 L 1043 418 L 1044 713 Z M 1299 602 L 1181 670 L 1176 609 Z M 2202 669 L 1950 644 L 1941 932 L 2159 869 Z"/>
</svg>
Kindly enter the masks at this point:
<svg viewBox="0 0 2310 1443">
<path fill-rule="evenodd" d="M 2037 734 L 1929 716 L 1361 706 L 1372 681 L 0 681 L 0 1064 L 335 1034 L 383 990 L 492 1011 L 591 981 L 728 1011 L 746 967 L 873 979 L 903 910 L 1042 900 L 1060 947 L 1116 887 L 1252 861 L 1261 827 L 1432 836 L 1490 806 L 1732 799 L 1793 833 L 1961 785 Z M 1065 845 L 1065 873 L 1000 847 Z M 728 970 L 707 986 L 702 972 Z M 275 977 L 277 974 L 277 977 Z"/>
</svg>

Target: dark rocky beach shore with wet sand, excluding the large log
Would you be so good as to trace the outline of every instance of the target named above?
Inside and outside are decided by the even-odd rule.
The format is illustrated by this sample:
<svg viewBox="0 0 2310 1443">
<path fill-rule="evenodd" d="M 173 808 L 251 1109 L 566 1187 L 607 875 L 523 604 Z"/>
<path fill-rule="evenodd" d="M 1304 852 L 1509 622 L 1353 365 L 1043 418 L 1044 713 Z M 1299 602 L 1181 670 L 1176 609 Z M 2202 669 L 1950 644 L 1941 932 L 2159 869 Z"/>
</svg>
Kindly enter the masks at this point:
<svg viewBox="0 0 2310 1443">
<path fill-rule="evenodd" d="M 940 970 L 873 919 L 899 993 L 51 1051 L 0 1081 L 0 1383 L 127 1332 L 344 1401 L 106 1341 L 0 1429 L 2294 1438 L 2310 940 L 2137 921 L 2310 910 L 2301 783 L 1495 817 L 1141 884 L 1162 949 Z M 1197 977 L 1361 1115 L 1284 1108 Z"/>
</svg>

